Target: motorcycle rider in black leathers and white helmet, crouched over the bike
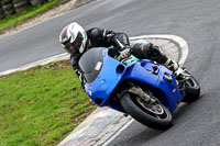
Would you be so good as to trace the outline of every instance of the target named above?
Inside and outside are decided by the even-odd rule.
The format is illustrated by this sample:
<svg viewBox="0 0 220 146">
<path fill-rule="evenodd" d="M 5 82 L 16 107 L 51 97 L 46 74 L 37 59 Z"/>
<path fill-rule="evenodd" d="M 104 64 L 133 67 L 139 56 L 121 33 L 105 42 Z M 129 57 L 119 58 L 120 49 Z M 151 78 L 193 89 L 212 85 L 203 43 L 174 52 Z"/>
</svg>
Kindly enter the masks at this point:
<svg viewBox="0 0 220 146">
<path fill-rule="evenodd" d="M 178 69 L 178 64 L 169 59 L 161 52 L 158 46 L 152 43 L 136 43 L 130 46 L 129 36 L 124 33 L 102 30 L 94 27 L 85 31 L 78 23 L 73 22 L 65 26 L 59 35 L 59 42 L 64 49 L 70 54 L 70 64 L 79 79 L 82 80 L 82 72 L 79 69 L 79 58 L 85 52 L 92 47 L 110 47 L 120 53 L 121 58 L 127 58 L 131 54 L 139 59 L 151 59 L 166 66 L 175 72 Z"/>
</svg>

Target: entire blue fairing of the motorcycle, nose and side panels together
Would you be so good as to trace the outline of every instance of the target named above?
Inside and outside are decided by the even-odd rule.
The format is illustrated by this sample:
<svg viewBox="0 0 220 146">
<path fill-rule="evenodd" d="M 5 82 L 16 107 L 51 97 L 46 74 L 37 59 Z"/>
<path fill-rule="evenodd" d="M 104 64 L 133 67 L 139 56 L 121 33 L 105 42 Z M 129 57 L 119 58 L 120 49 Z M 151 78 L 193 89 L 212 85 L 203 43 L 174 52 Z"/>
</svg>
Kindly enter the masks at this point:
<svg viewBox="0 0 220 146">
<path fill-rule="evenodd" d="M 130 66 L 125 66 L 108 56 L 108 49 L 103 49 L 102 55 L 103 65 L 100 74 L 94 82 L 85 86 L 87 94 L 99 106 L 110 105 L 116 110 L 123 111 L 119 105 L 110 103 L 109 98 L 118 85 L 128 79 L 143 82 L 154 89 L 153 94 L 170 111 L 174 111 L 176 103 L 182 100 L 183 96 L 179 93 L 174 75 L 165 67 L 147 59 L 138 60 Z M 153 69 L 155 66 L 157 69 Z M 164 77 L 165 72 L 170 75 L 172 82 L 168 82 Z"/>
</svg>

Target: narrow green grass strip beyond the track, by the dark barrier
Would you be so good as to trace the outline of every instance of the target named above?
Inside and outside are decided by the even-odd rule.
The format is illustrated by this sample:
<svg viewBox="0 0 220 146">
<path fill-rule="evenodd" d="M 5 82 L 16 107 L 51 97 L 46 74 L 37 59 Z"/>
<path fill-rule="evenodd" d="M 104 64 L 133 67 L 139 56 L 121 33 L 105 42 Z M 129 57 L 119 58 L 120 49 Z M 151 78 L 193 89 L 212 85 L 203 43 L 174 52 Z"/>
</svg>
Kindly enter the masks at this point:
<svg viewBox="0 0 220 146">
<path fill-rule="evenodd" d="M 22 23 L 23 20 L 32 18 L 32 16 L 52 8 L 57 2 L 59 2 L 59 0 L 52 0 L 52 1 L 45 2 L 43 5 L 30 7 L 23 12 L 16 13 L 14 15 L 10 15 L 4 20 L 0 20 L 0 32 L 8 27 L 20 24 L 20 23 Z"/>
</svg>

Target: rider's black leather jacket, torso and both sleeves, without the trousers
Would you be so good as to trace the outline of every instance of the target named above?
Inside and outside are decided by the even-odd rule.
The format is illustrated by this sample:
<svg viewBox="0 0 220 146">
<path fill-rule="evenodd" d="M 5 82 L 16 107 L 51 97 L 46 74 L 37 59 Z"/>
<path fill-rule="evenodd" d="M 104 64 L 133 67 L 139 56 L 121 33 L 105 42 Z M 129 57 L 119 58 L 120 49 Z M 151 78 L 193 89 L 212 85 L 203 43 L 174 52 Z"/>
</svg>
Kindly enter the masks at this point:
<svg viewBox="0 0 220 146">
<path fill-rule="evenodd" d="M 113 31 L 102 30 L 98 27 L 90 29 L 87 32 L 88 36 L 88 49 L 92 47 L 110 47 L 113 46 L 117 50 L 123 50 L 123 48 L 130 46 L 129 36 L 124 33 L 116 33 Z M 81 54 L 76 53 L 70 55 L 70 64 L 79 77 L 82 80 L 82 76 L 78 66 Z"/>
</svg>

